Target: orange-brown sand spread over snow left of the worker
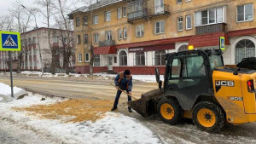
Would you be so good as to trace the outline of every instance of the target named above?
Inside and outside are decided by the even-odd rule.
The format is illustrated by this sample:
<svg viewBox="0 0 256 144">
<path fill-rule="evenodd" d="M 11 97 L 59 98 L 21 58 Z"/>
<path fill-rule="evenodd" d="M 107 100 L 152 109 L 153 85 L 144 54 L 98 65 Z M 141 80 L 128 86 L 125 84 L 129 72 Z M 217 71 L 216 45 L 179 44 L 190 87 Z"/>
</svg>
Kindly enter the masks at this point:
<svg viewBox="0 0 256 144">
<path fill-rule="evenodd" d="M 104 113 L 110 111 L 113 101 L 105 100 L 68 100 L 52 105 L 38 105 L 32 107 L 15 107 L 16 111 L 28 111 L 40 118 L 65 119 L 64 122 L 83 122 L 104 117 Z"/>
</svg>

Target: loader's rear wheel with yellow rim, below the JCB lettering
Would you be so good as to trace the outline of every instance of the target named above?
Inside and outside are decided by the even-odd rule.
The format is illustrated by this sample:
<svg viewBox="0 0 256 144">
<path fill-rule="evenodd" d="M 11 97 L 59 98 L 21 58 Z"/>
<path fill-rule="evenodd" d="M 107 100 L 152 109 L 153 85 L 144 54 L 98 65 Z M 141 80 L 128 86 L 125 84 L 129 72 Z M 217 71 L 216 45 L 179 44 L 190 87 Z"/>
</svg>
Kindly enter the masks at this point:
<svg viewBox="0 0 256 144">
<path fill-rule="evenodd" d="M 201 130 L 215 133 L 224 127 L 224 111 L 211 101 L 197 103 L 192 115 L 194 124 Z"/>
</svg>

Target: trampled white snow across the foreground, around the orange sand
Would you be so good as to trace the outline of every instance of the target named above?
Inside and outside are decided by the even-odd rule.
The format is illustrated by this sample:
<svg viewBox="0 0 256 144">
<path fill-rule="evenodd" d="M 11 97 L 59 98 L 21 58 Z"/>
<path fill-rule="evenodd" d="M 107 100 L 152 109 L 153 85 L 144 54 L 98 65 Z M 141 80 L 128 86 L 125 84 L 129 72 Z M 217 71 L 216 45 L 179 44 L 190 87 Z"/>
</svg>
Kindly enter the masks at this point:
<svg viewBox="0 0 256 144">
<path fill-rule="evenodd" d="M 0 103 L 0 118 L 9 119 L 21 128 L 33 130 L 37 135 L 47 135 L 64 143 L 160 143 L 157 135 L 137 119 L 121 113 L 107 112 L 106 117 L 96 120 L 95 123 L 63 123 L 61 120 L 41 119 L 38 115 L 13 109 L 65 101 L 49 97 L 41 101 L 42 97 L 44 96 L 28 93 L 23 99 Z"/>
</svg>

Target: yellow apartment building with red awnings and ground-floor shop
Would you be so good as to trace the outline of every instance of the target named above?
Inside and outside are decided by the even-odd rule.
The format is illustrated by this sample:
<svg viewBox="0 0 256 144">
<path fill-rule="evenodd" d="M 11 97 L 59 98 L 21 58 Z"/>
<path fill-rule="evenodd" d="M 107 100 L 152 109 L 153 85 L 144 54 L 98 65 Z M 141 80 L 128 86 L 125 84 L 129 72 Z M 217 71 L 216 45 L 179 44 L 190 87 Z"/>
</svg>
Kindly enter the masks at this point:
<svg viewBox="0 0 256 144">
<path fill-rule="evenodd" d="M 254 0 L 102 0 L 69 14 L 74 20 L 76 72 L 130 69 L 133 74 L 165 71 L 165 54 L 187 49 L 219 49 L 224 62 L 256 56 Z M 83 40 L 82 40 L 83 39 Z"/>
</svg>

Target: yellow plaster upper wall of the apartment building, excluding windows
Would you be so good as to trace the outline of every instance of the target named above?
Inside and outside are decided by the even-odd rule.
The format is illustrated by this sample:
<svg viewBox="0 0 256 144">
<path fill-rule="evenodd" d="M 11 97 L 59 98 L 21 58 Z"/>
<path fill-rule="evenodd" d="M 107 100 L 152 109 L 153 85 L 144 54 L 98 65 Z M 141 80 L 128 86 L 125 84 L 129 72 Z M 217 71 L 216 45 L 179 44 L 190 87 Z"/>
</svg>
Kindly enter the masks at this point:
<svg viewBox="0 0 256 144">
<path fill-rule="evenodd" d="M 221 6 L 226 6 L 226 19 L 227 31 L 235 31 L 247 28 L 255 28 L 256 27 L 256 1 L 255 0 L 191 0 L 190 2 L 177 3 L 177 0 L 164 0 L 166 5 L 169 5 L 170 14 L 168 15 L 160 15 L 154 18 L 150 18 L 148 20 L 136 20 L 133 23 L 127 22 L 127 15 L 123 18 L 123 14 L 121 19 L 117 18 L 117 9 L 127 7 L 126 2 L 120 2 L 111 4 L 109 6 L 103 7 L 101 9 L 96 9 L 92 11 L 92 15 L 98 15 L 98 24 L 92 25 L 91 20 L 88 20 L 88 26 L 83 26 L 83 16 L 85 13 L 75 13 L 74 17 L 74 33 L 75 37 L 77 35 L 81 35 L 81 44 L 76 44 L 76 54 L 83 54 L 83 62 L 77 63 L 77 66 L 89 66 L 89 63 L 84 63 L 84 53 L 89 53 L 89 45 L 84 45 L 84 34 L 89 34 L 89 43 L 90 40 L 93 39 L 93 33 L 99 33 L 99 41 L 106 40 L 105 32 L 112 32 L 112 39 L 115 40 L 116 44 L 123 43 L 137 43 L 143 41 L 157 40 L 163 38 L 172 38 L 172 37 L 184 37 L 195 35 L 195 12 L 203 9 L 211 9 L 218 8 Z M 239 5 L 253 3 L 253 20 L 247 22 L 236 22 L 236 7 Z M 147 1 L 148 9 L 154 8 L 154 0 Z M 153 9 L 154 10 L 154 9 Z M 105 21 L 105 12 L 111 11 L 111 20 Z M 126 14 L 128 14 L 128 8 L 126 9 Z M 186 30 L 186 20 L 185 16 L 192 16 L 192 29 Z M 177 17 L 183 16 L 183 31 L 177 31 Z M 80 18 L 80 26 L 76 26 L 75 18 Z M 90 18 L 90 13 L 88 13 L 88 18 Z M 165 33 L 163 34 L 155 34 L 154 33 L 154 23 L 159 20 L 165 21 Z M 139 25 L 144 26 L 144 36 L 137 37 L 136 36 L 136 27 Z M 118 39 L 118 29 L 119 28 L 127 28 L 127 39 Z M 90 32 L 92 32 L 90 34 Z M 94 47 L 98 47 L 98 43 L 93 43 Z M 77 57 L 78 60 L 78 57 Z"/>
</svg>

